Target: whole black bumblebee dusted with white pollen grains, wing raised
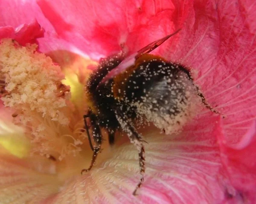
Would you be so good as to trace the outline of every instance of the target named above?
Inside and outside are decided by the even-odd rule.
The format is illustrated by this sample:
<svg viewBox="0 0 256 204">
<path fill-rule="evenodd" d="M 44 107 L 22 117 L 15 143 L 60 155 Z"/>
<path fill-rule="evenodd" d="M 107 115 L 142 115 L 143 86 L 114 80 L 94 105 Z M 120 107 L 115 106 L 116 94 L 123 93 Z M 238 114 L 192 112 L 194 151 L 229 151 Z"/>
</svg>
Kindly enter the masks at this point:
<svg viewBox="0 0 256 204">
<path fill-rule="evenodd" d="M 207 108 L 216 112 L 194 85 L 189 69 L 149 54 L 173 34 L 150 43 L 129 57 L 119 53 L 103 59 L 90 75 L 86 84 L 89 111 L 84 115 L 84 126 L 93 158 L 90 167 L 81 173 L 93 167 L 102 145 L 102 129 L 108 133 L 109 144 L 114 143 L 115 133 L 121 129 L 139 154 L 141 177 L 133 192 L 135 195 L 145 173 L 144 141 L 137 132 L 135 121 L 151 122 L 166 133 L 175 132 L 186 121 L 183 119 L 188 115 L 195 95 L 201 97 Z M 86 118 L 90 118 L 94 147 Z"/>
</svg>

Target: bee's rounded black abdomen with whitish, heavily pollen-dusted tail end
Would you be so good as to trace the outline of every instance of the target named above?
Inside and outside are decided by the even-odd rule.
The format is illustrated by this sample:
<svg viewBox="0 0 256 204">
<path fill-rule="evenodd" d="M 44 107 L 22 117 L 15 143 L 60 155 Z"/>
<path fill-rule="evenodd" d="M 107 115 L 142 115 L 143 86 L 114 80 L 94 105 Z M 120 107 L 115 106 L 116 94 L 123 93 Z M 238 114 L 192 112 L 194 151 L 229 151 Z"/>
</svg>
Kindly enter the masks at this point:
<svg viewBox="0 0 256 204">
<path fill-rule="evenodd" d="M 195 95 L 189 72 L 184 70 L 159 57 L 143 61 L 127 79 L 123 100 L 147 121 L 170 133 L 176 124 L 185 123 L 190 99 Z"/>
</svg>

